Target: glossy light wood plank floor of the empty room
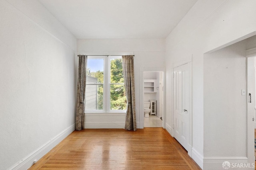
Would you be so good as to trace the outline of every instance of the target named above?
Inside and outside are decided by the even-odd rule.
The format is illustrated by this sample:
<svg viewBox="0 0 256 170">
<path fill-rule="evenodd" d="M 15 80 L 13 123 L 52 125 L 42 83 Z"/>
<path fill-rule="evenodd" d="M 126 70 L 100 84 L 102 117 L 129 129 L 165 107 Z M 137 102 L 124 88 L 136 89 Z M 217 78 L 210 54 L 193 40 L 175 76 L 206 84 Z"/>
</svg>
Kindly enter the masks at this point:
<svg viewBox="0 0 256 170">
<path fill-rule="evenodd" d="M 200 170 L 163 128 L 72 132 L 29 170 Z"/>
</svg>

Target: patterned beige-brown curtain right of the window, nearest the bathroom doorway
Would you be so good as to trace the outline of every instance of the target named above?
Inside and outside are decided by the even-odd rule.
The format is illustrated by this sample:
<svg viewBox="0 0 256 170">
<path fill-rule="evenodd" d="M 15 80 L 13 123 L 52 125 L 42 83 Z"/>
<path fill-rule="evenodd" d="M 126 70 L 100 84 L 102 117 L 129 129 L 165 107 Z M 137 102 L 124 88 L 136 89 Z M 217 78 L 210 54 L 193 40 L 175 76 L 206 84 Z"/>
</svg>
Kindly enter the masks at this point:
<svg viewBox="0 0 256 170">
<path fill-rule="evenodd" d="M 127 98 L 125 129 L 137 130 L 135 113 L 134 63 L 132 55 L 123 55 L 124 88 Z"/>
</svg>

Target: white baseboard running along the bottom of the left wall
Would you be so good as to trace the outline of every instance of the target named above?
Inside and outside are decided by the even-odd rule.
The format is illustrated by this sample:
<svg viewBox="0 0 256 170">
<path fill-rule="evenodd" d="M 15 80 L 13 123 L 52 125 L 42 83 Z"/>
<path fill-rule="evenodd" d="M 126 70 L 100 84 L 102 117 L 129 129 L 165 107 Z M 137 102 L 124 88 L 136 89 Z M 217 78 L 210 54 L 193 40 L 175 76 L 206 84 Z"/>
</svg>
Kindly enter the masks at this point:
<svg viewBox="0 0 256 170">
<path fill-rule="evenodd" d="M 39 160 L 46 153 L 48 153 L 52 148 L 54 148 L 58 143 L 65 139 L 70 133 L 75 130 L 75 124 L 71 125 L 53 139 L 36 149 L 34 152 L 22 159 L 22 161 L 16 163 L 14 166 L 10 167 L 8 170 L 27 170 L 34 163 L 34 160 Z"/>
</svg>

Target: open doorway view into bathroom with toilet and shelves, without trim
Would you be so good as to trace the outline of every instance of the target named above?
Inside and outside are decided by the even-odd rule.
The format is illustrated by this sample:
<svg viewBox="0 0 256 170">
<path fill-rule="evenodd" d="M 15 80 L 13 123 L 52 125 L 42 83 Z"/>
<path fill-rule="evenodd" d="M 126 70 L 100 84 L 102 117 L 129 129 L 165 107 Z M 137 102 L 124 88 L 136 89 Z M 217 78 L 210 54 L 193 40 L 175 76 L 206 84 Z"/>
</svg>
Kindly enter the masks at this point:
<svg viewBox="0 0 256 170">
<path fill-rule="evenodd" d="M 144 72 L 144 127 L 162 127 L 163 72 Z"/>
</svg>

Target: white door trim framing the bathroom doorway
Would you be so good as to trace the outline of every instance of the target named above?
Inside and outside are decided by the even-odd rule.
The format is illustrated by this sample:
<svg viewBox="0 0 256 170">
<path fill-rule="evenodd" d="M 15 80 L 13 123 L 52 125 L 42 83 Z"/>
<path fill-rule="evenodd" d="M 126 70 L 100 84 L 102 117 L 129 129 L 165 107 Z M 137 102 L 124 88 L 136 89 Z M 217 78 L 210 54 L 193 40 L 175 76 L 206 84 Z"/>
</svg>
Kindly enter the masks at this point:
<svg viewBox="0 0 256 170">
<path fill-rule="evenodd" d="M 163 72 L 164 100 L 162 113 L 162 127 L 165 129 L 166 122 L 166 73 L 165 67 L 140 67 L 140 129 L 144 129 L 144 71 L 148 72 Z"/>
</svg>

